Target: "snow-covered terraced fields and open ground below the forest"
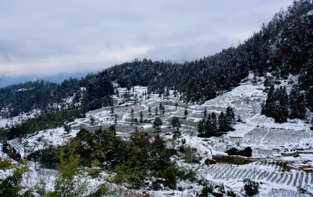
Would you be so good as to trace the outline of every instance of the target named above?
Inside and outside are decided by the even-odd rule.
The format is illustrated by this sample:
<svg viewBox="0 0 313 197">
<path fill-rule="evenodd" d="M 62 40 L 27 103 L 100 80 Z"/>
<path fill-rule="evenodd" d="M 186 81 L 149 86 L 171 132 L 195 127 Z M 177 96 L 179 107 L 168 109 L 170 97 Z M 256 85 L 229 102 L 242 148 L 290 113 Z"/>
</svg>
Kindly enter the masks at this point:
<svg viewBox="0 0 313 197">
<path fill-rule="evenodd" d="M 290 79 L 296 81 L 294 76 L 290 76 Z M 244 195 L 244 192 L 241 191 L 244 185 L 243 180 L 251 178 L 261 183 L 259 196 L 309 196 L 300 194 L 297 187 L 305 188 L 313 193 L 313 141 L 310 124 L 305 120 L 298 119 L 288 120 L 286 123 L 275 123 L 272 118 L 260 115 L 260 105 L 266 99 L 262 80 L 263 78 L 260 78 L 257 84 L 251 83 L 250 80 L 245 81 L 240 86 L 234 87 L 232 91 L 206 101 L 201 106 L 182 103 L 179 101 L 179 94 L 174 97 L 171 90 L 168 98 L 158 97 L 158 94 L 142 96 L 142 93 L 147 92 L 147 88 L 141 86 L 135 86 L 134 92 L 132 89 L 130 90 L 131 94 L 137 94 L 137 101 L 134 101 L 133 97 L 131 97 L 133 101 L 125 101 L 123 98 L 125 88 L 118 88 L 119 96 L 113 96 L 116 103 L 114 113 L 110 112 L 111 107 L 87 112 L 85 118 L 69 123 L 73 128 L 71 136 L 65 135 L 63 128 L 57 128 L 39 131 L 22 139 L 11 140 L 9 143 L 24 156 L 28 154 L 24 152 L 25 144 L 29 150 L 42 149 L 50 144 L 64 143 L 70 137 L 75 136 L 80 128 L 94 131 L 101 126 L 103 129 L 107 129 L 110 125 L 115 124 L 114 114 L 118 117 L 117 134 L 125 139 L 135 131 L 136 127 L 139 131 L 154 135 L 155 129 L 151 123 L 144 123 L 141 126 L 132 124 L 132 109 L 133 117 L 138 121 L 140 112 L 144 119 L 148 120 L 159 116 L 163 121 L 161 135 L 169 139 L 172 138 L 172 135 L 166 134 L 171 134 L 176 130 L 170 127 L 170 121 L 173 116 L 178 116 L 182 117 L 180 131 L 182 132 L 181 138 L 185 138 L 187 141 L 185 146 L 197 148 L 199 155 L 202 155 L 203 158 L 199 164 L 186 164 L 178 158 L 176 161 L 178 165 L 196 170 L 199 179 L 217 184 L 223 183 L 225 190 L 234 191 L 238 195 Z M 281 85 L 287 86 L 287 90 L 290 90 L 292 84 L 289 85 L 288 81 L 283 80 Z M 142 96 L 141 99 L 139 95 Z M 162 112 L 158 111 L 156 115 L 155 108 L 159 108 L 160 103 L 165 106 L 165 113 L 161 114 Z M 177 107 L 175 103 L 177 103 Z M 204 108 L 208 113 L 215 111 L 219 114 L 221 111 L 225 111 L 227 106 L 234 107 L 237 119 L 240 117 L 242 120 L 234 126 L 235 131 L 229 131 L 228 134 L 220 137 L 197 137 L 196 127 L 198 121 L 203 118 Z M 151 112 L 148 111 L 149 107 Z M 186 109 L 188 115 L 187 118 L 184 118 Z M 93 124 L 91 118 L 95 119 Z M 13 120 L 15 119 L 13 118 Z M 10 120 L 1 120 L 0 126 L 5 126 L 8 121 Z M 205 165 L 204 161 L 207 158 L 212 159 L 216 155 L 228 157 L 224 151 L 232 147 L 242 150 L 248 146 L 252 148 L 252 157 L 240 156 L 242 159 L 248 159 L 248 164 L 234 165 L 225 162 Z M 297 153 L 299 156 L 294 157 Z M 38 173 L 38 170 L 34 170 L 34 173 Z M 90 177 L 88 179 L 90 183 L 94 184 L 94 187 L 99 184 L 99 181 L 92 181 Z M 196 196 L 202 189 L 202 186 L 195 182 L 180 181 L 177 186 L 183 189 L 174 191 L 175 196 Z M 137 192 L 143 191 L 152 196 L 167 196 L 172 193 L 172 190 L 146 191 L 145 189 Z"/>
</svg>

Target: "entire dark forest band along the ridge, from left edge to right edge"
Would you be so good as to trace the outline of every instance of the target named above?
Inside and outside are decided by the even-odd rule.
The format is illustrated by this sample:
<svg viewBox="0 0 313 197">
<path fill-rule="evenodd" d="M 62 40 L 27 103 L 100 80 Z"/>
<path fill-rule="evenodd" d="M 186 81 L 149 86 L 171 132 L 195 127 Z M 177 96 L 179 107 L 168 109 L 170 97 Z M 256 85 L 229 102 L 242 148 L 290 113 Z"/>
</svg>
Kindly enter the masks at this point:
<svg viewBox="0 0 313 197">
<path fill-rule="evenodd" d="M 300 91 L 304 90 L 305 105 L 312 109 L 312 32 L 312 3 L 294 1 L 243 43 L 215 55 L 184 63 L 135 59 L 85 78 L 69 78 L 61 84 L 42 80 L 3 87 L 1 117 L 11 118 L 33 110 L 42 115 L 70 111 L 73 118 L 83 117 L 87 111 L 113 105 L 111 96 L 118 93 L 113 81 L 128 91 L 140 85 L 148 87 L 148 94 L 156 93 L 159 97 L 170 89 L 180 93 L 183 101 L 205 101 L 216 97 L 219 91 L 237 86 L 249 71 L 254 76 L 270 72 L 274 81 L 286 79 L 290 73 L 299 75 L 296 84 Z"/>
</svg>

